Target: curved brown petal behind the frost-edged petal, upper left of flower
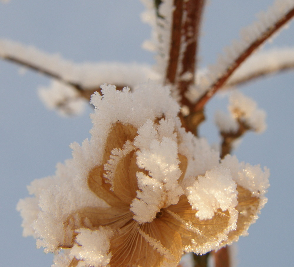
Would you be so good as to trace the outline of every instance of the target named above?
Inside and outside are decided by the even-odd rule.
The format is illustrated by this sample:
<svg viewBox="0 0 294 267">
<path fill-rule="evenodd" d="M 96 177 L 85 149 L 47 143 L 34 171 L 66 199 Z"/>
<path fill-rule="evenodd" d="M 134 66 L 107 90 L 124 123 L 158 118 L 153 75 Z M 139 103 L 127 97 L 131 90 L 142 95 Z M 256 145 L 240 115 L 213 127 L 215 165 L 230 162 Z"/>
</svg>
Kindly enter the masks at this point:
<svg viewBox="0 0 294 267">
<path fill-rule="evenodd" d="M 136 137 L 137 129 L 130 125 L 124 125 L 117 122 L 112 126 L 112 129 L 107 137 L 103 154 L 102 164 L 95 166 L 88 175 L 89 188 L 100 198 L 106 201 L 111 206 L 116 206 L 120 202 L 119 198 L 110 190 L 111 185 L 106 183 L 103 174 L 105 173 L 104 164 L 110 158 L 113 148 L 123 148 L 126 141 L 133 141 Z"/>
</svg>

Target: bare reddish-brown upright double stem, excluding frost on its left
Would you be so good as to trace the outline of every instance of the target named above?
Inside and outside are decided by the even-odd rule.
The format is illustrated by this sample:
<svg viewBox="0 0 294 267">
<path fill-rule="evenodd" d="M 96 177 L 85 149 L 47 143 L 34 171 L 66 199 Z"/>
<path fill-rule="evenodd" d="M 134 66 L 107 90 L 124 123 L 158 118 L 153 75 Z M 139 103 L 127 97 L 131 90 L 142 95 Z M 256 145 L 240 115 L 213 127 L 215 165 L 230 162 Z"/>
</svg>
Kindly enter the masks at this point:
<svg viewBox="0 0 294 267">
<path fill-rule="evenodd" d="M 200 22 L 205 0 L 174 0 L 173 21 L 166 83 L 175 85 L 182 104 L 193 107 L 185 97 L 194 83 Z"/>
</svg>

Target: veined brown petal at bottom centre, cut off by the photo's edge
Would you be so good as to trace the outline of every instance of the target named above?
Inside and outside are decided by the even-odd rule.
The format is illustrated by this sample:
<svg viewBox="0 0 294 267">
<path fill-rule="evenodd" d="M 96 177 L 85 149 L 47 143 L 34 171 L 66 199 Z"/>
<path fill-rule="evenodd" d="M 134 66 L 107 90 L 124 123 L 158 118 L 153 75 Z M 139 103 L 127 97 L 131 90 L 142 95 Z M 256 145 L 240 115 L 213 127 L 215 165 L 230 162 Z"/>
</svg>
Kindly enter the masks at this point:
<svg viewBox="0 0 294 267">
<path fill-rule="evenodd" d="M 144 237 L 145 236 L 145 237 Z M 181 257 L 178 250 L 181 249 L 181 237 L 172 231 L 164 223 L 155 223 L 153 225 L 145 223 L 139 225 L 136 221 L 131 221 L 129 224 L 119 229 L 119 231 L 111 239 L 110 251 L 112 258 L 110 260 L 111 267 L 156 267 L 161 266 L 163 262 L 170 262 L 166 259 L 167 255 L 161 250 L 159 251 L 146 240 L 146 236 L 151 239 L 155 236 L 158 241 L 157 246 L 167 246 L 171 252 L 177 251 L 177 259 Z M 166 237 L 165 237 L 166 236 Z M 170 237 L 172 236 L 172 237 Z M 161 243 L 163 242 L 163 244 Z M 176 244 L 179 244 L 178 246 Z M 176 247 L 176 250 L 174 249 Z M 168 251 L 168 248 L 165 248 Z M 171 256 L 174 258 L 174 256 Z M 176 266 L 178 262 L 174 262 L 168 266 Z"/>
</svg>

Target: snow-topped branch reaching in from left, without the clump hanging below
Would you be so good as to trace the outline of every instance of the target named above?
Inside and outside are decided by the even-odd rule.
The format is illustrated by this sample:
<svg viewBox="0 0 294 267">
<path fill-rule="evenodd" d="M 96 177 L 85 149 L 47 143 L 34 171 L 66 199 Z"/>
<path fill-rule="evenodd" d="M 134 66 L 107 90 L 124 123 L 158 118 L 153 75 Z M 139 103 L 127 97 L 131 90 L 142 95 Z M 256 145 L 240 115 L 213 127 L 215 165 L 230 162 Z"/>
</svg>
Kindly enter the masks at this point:
<svg viewBox="0 0 294 267">
<path fill-rule="evenodd" d="M 136 87 L 149 78 L 158 79 L 158 74 L 147 64 L 120 62 L 76 64 L 62 59 L 59 54 L 48 54 L 33 46 L 24 46 L 3 39 L 0 40 L 0 57 L 73 86 L 87 99 L 88 95 L 91 96 L 104 83 L 121 88 Z"/>
</svg>

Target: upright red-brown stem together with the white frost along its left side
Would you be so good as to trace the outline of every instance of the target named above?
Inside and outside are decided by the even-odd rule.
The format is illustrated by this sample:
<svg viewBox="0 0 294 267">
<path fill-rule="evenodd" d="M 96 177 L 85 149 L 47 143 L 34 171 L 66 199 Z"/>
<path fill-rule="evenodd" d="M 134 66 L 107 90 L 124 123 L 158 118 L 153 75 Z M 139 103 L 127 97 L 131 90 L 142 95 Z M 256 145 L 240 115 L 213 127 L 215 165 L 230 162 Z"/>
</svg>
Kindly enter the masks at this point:
<svg viewBox="0 0 294 267">
<path fill-rule="evenodd" d="M 142 19 L 153 27 L 152 41 L 145 48 L 158 51 L 158 70 L 164 83 L 175 85 L 182 104 L 190 105 L 184 93 L 194 83 L 198 36 L 205 0 L 143 0 Z M 154 22 L 156 21 L 156 22 Z"/>
</svg>

